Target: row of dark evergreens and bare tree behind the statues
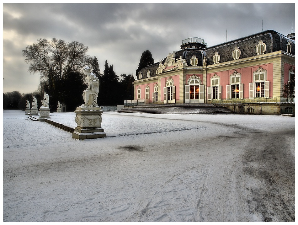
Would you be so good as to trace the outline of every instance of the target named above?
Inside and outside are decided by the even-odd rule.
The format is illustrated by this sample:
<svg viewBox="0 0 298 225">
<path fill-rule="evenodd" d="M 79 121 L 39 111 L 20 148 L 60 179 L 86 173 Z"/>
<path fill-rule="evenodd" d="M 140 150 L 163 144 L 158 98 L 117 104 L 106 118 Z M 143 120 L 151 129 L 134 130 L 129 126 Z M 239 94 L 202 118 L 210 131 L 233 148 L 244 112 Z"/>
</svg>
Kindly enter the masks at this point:
<svg viewBox="0 0 298 225">
<path fill-rule="evenodd" d="M 50 110 L 56 111 L 57 102 L 67 105 L 67 111 L 74 111 L 76 107 L 84 103 L 82 93 L 87 88 L 82 68 L 89 66 L 98 77 L 99 93 L 98 105 L 121 105 L 124 100 L 133 99 L 133 74 L 121 74 L 121 79 L 114 72 L 114 66 L 104 63 L 104 71 L 101 73 L 96 56 L 87 55 L 88 46 L 77 41 L 70 43 L 53 38 L 52 40 L 40 39 L 37 43 L 28 45 L 23 50 L 25 62 L 29 65 L 30 73 L 39 73 L 40 85 L 38 90 L 20 94 L 18 91 L 3 93 L 3 109 L 26 108 L 26 99 L 30 104 L 33 95 L 38 105 L 43 99 L 43 92 L 50 96 Z M 145 51 L 140 59 L 136 73 L 154 63 L 150 51 Z"/>
</svg>

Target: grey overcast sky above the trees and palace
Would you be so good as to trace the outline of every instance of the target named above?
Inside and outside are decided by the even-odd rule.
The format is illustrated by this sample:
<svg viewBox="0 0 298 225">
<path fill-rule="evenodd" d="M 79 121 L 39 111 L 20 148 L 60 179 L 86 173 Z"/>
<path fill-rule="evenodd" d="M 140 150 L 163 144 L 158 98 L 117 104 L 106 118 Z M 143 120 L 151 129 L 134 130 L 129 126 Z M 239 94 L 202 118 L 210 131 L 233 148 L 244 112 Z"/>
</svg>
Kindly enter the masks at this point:
<svg viewBox="0 0 298 225">
<path fill-rule="evenodd" d="M 261 32 L 262 20 L 263 30 L 295 33 L 295 3 L 3 3 L 3 92 L 38 89 L 22 50 L 40 38 L 76 40 L 102 72 L 107 60 L 118 76 L 135 75 L 147 49 L 159 62 L 183 39 L 213 46 Z"/>
</svg>

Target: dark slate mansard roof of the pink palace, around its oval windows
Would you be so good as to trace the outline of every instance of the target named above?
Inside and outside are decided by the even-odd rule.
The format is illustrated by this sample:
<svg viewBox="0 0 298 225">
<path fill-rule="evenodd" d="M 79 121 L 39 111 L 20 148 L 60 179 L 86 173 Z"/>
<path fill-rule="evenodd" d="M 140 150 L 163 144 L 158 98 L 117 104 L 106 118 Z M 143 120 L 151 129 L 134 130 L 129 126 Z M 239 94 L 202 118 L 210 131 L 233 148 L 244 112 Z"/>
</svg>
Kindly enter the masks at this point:
<svg viewBox="0 0 298 225">
<path fill-rule="evenodd" d="M 215 52 L 218 52 L 220 55 L 220 63 L 221 62 L 229 62 L 233 61 L 232 52 L 235 47 L 238 47 L 241 51 L 240 59 L 256 56 L 256 46 L 258 42 L 262 40 L 266 44 L 266 51 L 265 53 L 275 52 L 275 51 L 285 51 L 287 52 L 287 43 L 291 41 L 292 43 L 292 50 L 291 54 L 295 55 L 295 40 L 291 40 L 285 35 L 281 35 L 274 30 L 265 30 L 263 32 L 249 35 L 246 37 L 242 37 L 236 40 L 231 40 L 219 45 L 207 47 L 207 48 L 186 48 L 175 53 L 175 59 L 182 58 L 186 59 L 187 65 L 190 65 L 190 58 L 195 55 L 197 56 L 199 63 L 198 66 L 203 65 L 204 56 L 207 59 L 207 65 L 212 65 L 213 63 L 213 56 Z M 164 63 L 166 58 L 162 60 Z M 158 68 L 159 62 L 151 64 L 143 69 L 140 70 L 142 72 L 142 79 L 147 78 L 147 71 L 150 69 L 151 77 L 156 76 L 156 69 Z M 137 78 L 138 78 L 138 74 Z M 139 79 L 139 78 L 138 78 Z"/>
</svg>

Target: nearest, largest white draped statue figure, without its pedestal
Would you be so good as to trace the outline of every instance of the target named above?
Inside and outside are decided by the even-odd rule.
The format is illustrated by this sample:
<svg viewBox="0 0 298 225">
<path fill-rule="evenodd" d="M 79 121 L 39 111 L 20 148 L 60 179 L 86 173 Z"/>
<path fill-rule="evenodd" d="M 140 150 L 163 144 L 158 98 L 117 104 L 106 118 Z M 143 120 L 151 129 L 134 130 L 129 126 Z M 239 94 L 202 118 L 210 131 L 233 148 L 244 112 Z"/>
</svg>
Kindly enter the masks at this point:
<svg viewBox="0 0 298 225">
<path fill-rule="evenodd" d="M 88 88 L 83 91 L 83 99 L 85 104 L 83 106 L 95 107 L 97 104 L 97 97 L 99 91 L 99 79 L 91 72 L 90 67 L 84 68 L 84 74 L 87 76 L 86 81 L 88 83 Z"/>
</svg>

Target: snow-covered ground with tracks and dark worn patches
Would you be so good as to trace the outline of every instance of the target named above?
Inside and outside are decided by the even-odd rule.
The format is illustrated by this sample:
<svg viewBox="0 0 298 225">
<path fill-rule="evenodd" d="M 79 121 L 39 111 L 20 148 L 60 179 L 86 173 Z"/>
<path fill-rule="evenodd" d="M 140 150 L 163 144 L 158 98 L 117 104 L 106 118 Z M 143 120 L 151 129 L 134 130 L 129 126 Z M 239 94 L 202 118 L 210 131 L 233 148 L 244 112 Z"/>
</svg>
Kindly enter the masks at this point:
<svg viewBox="0 0 298 225">
<path fill-rule="evenodd" d="M 294 117 L 102 118 L 107 137 L 77 140 L 3 111 L 3 222 L 295 221 Z"/>
</svg>

